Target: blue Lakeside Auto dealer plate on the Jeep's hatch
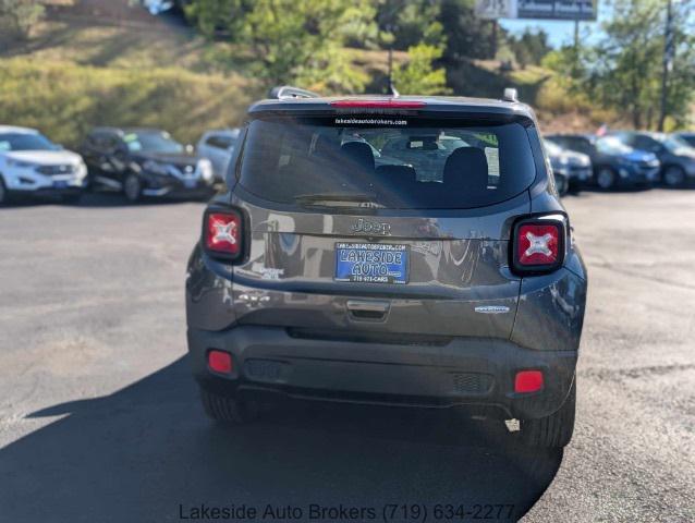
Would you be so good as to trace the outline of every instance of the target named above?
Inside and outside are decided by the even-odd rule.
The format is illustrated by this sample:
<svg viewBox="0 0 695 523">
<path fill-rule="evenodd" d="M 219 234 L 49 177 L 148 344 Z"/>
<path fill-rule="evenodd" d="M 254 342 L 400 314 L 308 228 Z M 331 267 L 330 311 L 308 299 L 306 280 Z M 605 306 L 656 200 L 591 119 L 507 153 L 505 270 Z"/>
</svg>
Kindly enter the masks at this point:
<svg viewBox="0 0 695 523">
<path fill-rule="evenodd" d="M 407 245 L 336 244 L 336 281 L 405 284 L 407 269 Z"/>
</svg>

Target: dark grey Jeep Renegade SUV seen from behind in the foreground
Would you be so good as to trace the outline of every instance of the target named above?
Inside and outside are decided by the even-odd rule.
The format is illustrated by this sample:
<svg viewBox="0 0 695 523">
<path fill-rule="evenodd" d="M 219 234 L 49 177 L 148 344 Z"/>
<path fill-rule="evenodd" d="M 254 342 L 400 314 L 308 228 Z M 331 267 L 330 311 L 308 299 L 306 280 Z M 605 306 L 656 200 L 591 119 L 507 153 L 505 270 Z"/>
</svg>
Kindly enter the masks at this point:
<svg viewBox="0 0 695 523">
<path fill-rule="evenodd" d="M 570 441 L 586 269 L 527 106 L 280 89 L 239 144 L 186 280 L 212 418 L 272 393 Z"/>
</svg>

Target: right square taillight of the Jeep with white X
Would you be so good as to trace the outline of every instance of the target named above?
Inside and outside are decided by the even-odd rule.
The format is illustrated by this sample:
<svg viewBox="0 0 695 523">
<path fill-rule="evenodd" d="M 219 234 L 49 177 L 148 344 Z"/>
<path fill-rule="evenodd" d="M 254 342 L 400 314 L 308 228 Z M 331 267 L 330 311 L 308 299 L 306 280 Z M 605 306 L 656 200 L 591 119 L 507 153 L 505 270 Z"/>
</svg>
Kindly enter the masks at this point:
<svg viewBox="0 0 695 523">
<path fill-rule="evenodd" d="M 516 272 L 556 270 L 564 260 L 564 219 L 524 219 L 514 226 L 512 267 Z"/>
</svg>

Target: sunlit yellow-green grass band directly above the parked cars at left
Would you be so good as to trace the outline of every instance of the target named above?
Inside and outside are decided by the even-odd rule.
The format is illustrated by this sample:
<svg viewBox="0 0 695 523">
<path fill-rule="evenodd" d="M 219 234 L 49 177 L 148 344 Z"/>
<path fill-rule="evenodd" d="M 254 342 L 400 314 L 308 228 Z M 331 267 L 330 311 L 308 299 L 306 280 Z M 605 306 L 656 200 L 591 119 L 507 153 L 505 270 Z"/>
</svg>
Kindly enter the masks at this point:
<svg viewBox="0 0 695 523">
<path fill-rule="evenodd" d="M 241 123 L 253 94 L 243 77 L 182 68 L 0 60 L 0 122 L 38 127 L 70 147 L 95 125 L 163 127 L 194 142 L 206 129 Z"/>
</svg>

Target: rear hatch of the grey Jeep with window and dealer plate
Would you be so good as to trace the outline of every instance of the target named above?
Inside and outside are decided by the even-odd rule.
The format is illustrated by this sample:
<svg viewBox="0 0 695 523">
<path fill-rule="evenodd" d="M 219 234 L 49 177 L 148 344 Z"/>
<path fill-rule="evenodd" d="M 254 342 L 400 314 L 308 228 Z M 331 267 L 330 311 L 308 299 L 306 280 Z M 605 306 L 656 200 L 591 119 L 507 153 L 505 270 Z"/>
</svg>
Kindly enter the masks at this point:
<svg viewBox="0 0 695 523">
<path fill-rule="evenodd" d="M 355 111 L 249 123 L 233 191 L 251 234 L 233 269 L 240 323 L 509 338 L 510 230 L 536 173 L 528 122 Z"/>
</svg>

